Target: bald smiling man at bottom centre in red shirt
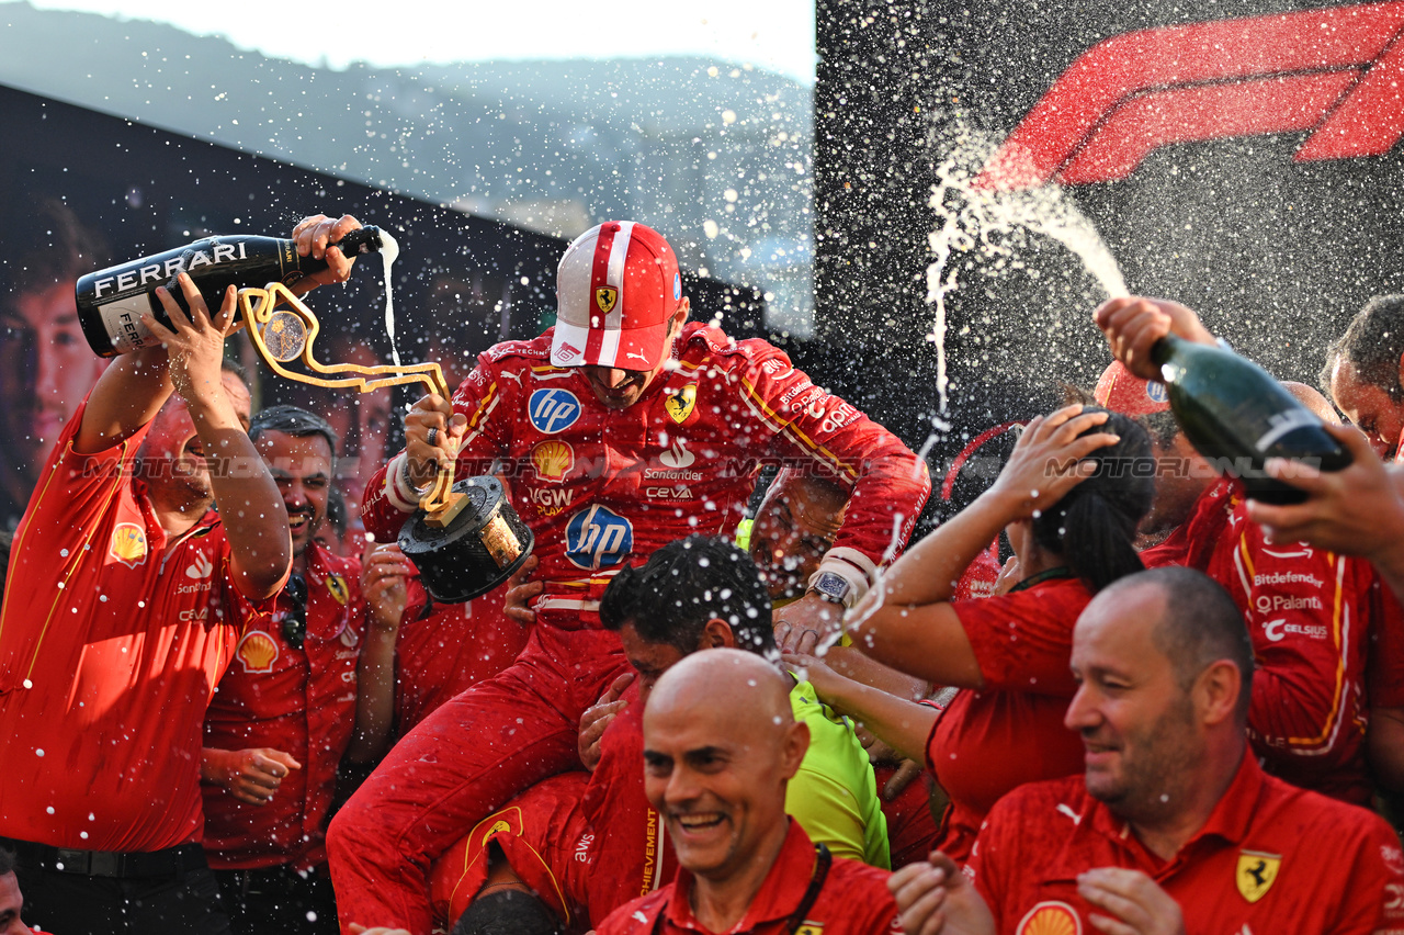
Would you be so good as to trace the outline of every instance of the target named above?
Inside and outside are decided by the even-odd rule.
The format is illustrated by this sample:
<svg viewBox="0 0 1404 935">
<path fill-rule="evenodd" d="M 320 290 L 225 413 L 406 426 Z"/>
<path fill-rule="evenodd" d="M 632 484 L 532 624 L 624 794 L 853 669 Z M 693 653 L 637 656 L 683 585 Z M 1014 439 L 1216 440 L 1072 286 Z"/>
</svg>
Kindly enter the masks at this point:
<svg viewBox="0 0 1404 935">
<path fill-rule="evenodd" d="M 900 932 L 889 875 L 831 856 L 785 814 L 807 747 L 789 685 L 754 653 L 717 649 L 673 665 L 643 712 L 643 762 L 678 873 L 615 910 L 600 935 Z"/>
</svg>

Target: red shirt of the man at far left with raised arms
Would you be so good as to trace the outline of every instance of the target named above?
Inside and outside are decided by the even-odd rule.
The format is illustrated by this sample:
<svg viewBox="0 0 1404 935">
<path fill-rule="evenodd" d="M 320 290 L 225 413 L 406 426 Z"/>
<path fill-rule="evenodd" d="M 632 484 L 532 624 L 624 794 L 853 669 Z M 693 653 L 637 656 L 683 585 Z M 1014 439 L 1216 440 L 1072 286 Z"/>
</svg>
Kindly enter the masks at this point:
<svg viewBox="0 0 1404 935">
<path fill-rule="evenodd" d="M 0 834 L 160 851 L 204 833 L 201 724 L 254 606 L 230 580 L 218 514 L 167 541 L 133 470 L 149 425 L 81 455 L 86 409 L 49 455 L 10 555 Z"/>
</svg>

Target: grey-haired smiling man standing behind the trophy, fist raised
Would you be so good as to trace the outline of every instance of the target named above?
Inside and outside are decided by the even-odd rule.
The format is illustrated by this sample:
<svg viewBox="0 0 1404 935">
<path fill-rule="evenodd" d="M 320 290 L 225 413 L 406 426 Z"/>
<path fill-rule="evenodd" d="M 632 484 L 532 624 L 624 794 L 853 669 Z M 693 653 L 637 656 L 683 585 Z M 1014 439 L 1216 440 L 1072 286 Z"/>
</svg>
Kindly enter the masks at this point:
<svg viewBox="0 0 1404 935">
<path fill-rule="evenodd" d="M 361 562 L 317 545 L 337 437 L 293 406 L 249 428 L 278 483 L 292 533 L 292 577 L 274 614 L 244 621 L 205 716 L 205 854 L 234 932 L 336 932 L 326 820 L 343 755 L 383 752 L 395 694 L 403 557 Z"/>
</svg>

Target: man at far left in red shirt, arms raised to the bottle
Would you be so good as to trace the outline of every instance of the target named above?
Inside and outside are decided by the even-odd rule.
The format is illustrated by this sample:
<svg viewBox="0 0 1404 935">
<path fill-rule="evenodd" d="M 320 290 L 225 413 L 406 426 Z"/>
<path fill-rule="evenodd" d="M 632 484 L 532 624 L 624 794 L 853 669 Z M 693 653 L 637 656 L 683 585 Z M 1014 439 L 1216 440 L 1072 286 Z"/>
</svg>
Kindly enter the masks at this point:
<svg viewBox="0 0 1404 935">
<path fill-rule="evenodd" d="M 114 361 L 59 435 L 0 609 L 0 834 L 32 921 L 69 935 L 229 925 L 199 845 L 201 723 L 291 543 L 223 366 L 234 289 L 212 320 L 178 288 L 190 314 L 157 289 L 173 327 L 143 323 L 164 344 Z"/>
</svg>

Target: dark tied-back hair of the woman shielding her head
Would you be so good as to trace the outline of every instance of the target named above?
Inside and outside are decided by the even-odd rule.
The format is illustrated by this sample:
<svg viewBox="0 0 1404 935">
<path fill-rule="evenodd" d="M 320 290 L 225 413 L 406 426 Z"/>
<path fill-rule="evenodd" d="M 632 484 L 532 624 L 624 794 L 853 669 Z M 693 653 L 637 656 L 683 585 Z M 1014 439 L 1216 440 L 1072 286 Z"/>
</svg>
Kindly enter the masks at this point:
<svg viewBox="0 0 1404 935">
<path fill-rule="evenodd" d="M 1084 413 L 1106 413 L 1084 406 Z M 1097 470 L 1033 519 L 1033 541 L 1063 556 L 1067 567 L 1097 594 L 1116 578 L 1146 566 L 1132 545 L 1136 526 L 1155 496 L 1155 459 L 1150 437 L 1129 416 L 1108 413 L 1101 425 L 1082 432 L 1109 432 L 1120 441 L 1085 460 Z"/>
</svg>

